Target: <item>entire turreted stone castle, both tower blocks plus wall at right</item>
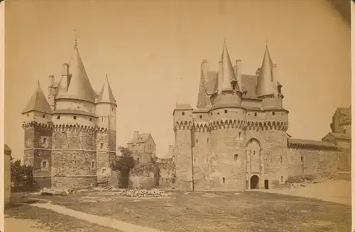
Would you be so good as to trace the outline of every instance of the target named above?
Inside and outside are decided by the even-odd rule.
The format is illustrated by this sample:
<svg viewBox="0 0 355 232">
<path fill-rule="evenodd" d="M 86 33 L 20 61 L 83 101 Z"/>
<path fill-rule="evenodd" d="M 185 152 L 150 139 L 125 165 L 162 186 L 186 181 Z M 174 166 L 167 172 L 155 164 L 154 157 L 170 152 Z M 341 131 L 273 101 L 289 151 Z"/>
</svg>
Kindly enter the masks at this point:
<svg viewBox="0 0 355 232">
<path fill-rule="evenodd" d="M 349 176 L 351 108 L 337 109 L 322 141 L 293 139 L 277 75 L 267 46 L 253 76 L 241 73 L 240 60 L 231 63 L 224 43 L 219 71 L 202 61 L 197 108 L 176 105 L 175 145 L 166 156 L 156 158 L 148 133 L 134 132 L 127 146 L 137 163 L 155 161 L 160 187 L 178 190 L 268 189 L 307 176 Z M 93 90 L 76 40 L 58 83 L 50 76 L 48 92 L 47 100 L 38 83 L 22 112 L 24 162 L 33 166 L 38 187 L 104 182 L 116 156 L 117 105 L 107 76 L 101 90 Z M 137 185 L 153 183 L 148 169 L 144 175 L 133 170 Z"/>
</svg>

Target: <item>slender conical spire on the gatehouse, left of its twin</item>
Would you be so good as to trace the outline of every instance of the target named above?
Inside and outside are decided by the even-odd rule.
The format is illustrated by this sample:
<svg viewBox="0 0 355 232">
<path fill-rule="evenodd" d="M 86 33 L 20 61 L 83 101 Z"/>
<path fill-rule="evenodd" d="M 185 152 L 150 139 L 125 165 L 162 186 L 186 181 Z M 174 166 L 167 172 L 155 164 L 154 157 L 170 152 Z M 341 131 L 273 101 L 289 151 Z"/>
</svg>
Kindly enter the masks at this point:
<svg viewBox="0 0 355 232">
<path fill-rule="evenodd" d="M 234 73 L 234 67 L 231 64 L 231 58 L 229 57 L 229 52 L 226 48 L 226 40 L 224 40 L 223 51 L 222 51 L 222 86 L 221 91 L 240 91 L 238 83 L 236 81 L 236 75 Z"/>
</svg>

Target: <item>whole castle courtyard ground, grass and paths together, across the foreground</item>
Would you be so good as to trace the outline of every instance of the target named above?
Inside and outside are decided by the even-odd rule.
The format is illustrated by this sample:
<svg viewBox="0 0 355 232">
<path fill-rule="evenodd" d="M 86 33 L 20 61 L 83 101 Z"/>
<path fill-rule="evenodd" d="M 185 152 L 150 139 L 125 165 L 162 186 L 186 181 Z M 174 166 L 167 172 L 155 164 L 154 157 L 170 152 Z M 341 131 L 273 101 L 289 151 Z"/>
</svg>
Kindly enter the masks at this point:
<svg viewBox="0 0 355 232">
<path fill-rule="evenodd" d="M 65 197 L 27 195 L 42 200 L 7 209 L 6 221 L 9 221 L 7 225 L 20 219 L 37 221 L 36 225 L 44 230 L 41 232 L 85 231 L 88 228 L 104 232 L 138 229 L 165 232 L 349 231 L 350 189 L 350 181 L 330 180 L 278 190 L 278 193 L 168 192 L 165 197 L 136 198 L 87 190 Z M 111 220 L 105 224 L 111 228 L 100 225 L 99 220 Z"/>
</svg>

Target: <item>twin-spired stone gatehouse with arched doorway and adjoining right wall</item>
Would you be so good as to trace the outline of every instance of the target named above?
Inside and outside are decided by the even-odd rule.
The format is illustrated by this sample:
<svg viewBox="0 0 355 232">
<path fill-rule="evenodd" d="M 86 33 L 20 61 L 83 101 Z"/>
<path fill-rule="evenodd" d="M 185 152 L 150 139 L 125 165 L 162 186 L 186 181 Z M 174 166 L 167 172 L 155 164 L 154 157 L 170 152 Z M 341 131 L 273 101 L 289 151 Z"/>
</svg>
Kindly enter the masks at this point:
<svg viewBox="0 0 355 232">
<path fill-rule="evenodd" d="M 293 139 L 287 133 L 288 110 L 277 70 L 267 46 L 255 76 L 242 74 L 240 60 L 231 63 L 225 42 L 218 71 L 202 61 L 197 108 L 177 104 L 173 112 L 170 158 L 178 189 L 268 189 L 307 175 L 334 178 L 342 160 L 349 170 L 350 129 L 338 132 L 333 123 L 330 133 L 346 137 L 347 149 L 329 139 Z"/>
</svg>

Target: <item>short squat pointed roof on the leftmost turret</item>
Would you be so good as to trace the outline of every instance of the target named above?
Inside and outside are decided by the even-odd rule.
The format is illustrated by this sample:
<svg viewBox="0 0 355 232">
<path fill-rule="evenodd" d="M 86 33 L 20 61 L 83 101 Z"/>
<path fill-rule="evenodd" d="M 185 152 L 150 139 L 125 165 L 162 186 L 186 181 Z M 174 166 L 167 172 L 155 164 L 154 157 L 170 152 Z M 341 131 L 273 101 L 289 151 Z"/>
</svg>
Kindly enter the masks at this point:
<svg viewBox="0 0 355 232">
<path fill-rule="evenodd" d="M 23 109 L 22 114 L 31 111 L 44 112 L 47 114 L 52 113 L 48 101 L 45 98 L 42 89 L 40 88 L 40 81 L 37 82 L 37 88 L 35 89 L 35 92 L 32 94 L 30 100 L 28 100 L 26 108 Z"/>
</svg>

